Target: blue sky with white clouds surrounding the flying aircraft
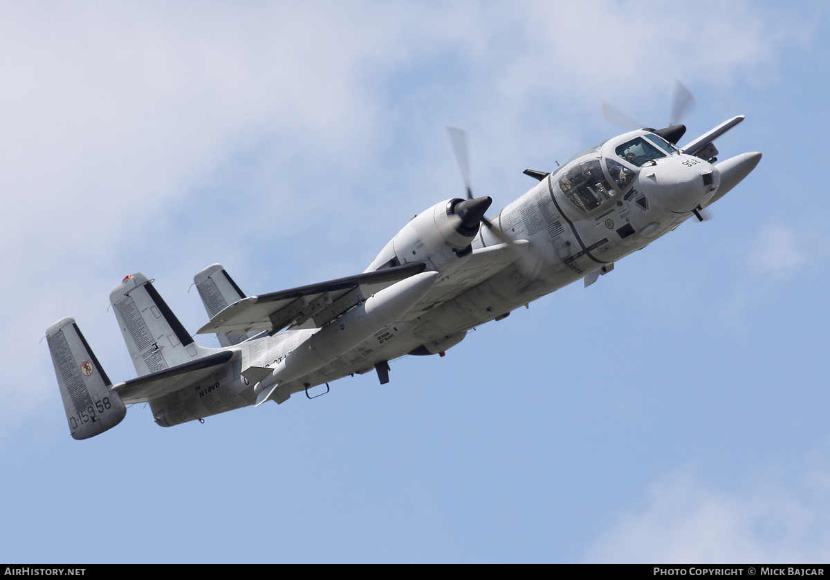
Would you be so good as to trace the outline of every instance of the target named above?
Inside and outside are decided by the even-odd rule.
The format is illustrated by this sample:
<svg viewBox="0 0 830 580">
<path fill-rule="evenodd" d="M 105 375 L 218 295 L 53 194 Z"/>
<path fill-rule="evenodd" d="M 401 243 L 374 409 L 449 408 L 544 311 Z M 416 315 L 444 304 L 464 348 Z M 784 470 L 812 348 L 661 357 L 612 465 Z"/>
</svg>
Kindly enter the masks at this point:
<svg viewBox="0 0 830 580">
<path fill-rule="evenodd" d="M 822 2 L 3 5 L 0 560 L 827 562 L 828 37 Z M 461 196 L 445 126 L 495 211 L 676 78 L 687 139 L 744 114 L 720 158 L 764 153 L 714 219 L 388 385 L 69 436 L 38 341 L 71 315 L 132 378 L 124 275 L 194 332 L 204 266 L 349 275 Z"/>
</svg>

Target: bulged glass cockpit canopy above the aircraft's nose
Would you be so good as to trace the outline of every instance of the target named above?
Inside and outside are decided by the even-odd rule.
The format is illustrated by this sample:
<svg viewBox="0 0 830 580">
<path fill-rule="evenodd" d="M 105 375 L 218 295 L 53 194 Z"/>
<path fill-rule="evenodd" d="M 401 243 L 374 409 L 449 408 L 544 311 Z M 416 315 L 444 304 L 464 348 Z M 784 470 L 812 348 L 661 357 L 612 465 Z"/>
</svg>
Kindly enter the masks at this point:
<svg viewBox="0 0 830 580">
<path fill-rule="evenodd" d="M 565 165 L 559 189 L 576 207 L 590 213 L 625 193 L 644 164 L 678 152 L 666 139 L 642 130 L 608 139 L 579 154 L 582 163 Z"/>
</svg>

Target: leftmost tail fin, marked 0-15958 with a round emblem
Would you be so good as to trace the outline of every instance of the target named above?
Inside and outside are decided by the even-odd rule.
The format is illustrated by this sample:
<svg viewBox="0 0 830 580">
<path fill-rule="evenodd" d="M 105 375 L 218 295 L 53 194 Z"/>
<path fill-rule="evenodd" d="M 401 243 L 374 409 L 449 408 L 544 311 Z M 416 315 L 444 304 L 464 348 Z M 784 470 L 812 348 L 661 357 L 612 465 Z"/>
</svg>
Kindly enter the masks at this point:
<svg viewBox="0 0 830 580">
<path fill-rule="evenodd" d="M 127 413 L 112 383 L 86 344 L 75 319 L 65 318 L 46 329 L 57 384 L 75 439 L 88 439 L 118 425 Z"/>
</svg>

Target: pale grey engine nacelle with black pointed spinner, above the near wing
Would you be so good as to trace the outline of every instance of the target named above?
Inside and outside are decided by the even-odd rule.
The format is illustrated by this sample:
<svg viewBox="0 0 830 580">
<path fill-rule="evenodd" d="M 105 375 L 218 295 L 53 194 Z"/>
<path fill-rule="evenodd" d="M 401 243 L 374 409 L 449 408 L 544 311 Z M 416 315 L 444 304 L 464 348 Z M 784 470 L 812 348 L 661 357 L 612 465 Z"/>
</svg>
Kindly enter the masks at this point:
<svg viewBox="0 0 830 580">
<path fill-rule="evenodd" d="M 450 199 L 413 217 L 392 238 L 366 271 L 423 261 L 433 271 L 444 271 L 468 256 L 471 243 L 490 207 L 490 197 Z"/>
</svg>

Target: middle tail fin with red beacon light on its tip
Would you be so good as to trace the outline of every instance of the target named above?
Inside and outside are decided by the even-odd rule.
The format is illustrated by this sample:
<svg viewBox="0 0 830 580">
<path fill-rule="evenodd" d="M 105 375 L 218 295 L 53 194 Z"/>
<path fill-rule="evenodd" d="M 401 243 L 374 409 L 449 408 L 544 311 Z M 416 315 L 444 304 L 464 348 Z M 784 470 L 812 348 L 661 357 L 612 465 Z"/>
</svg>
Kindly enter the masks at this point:
<svg viewBox="0 0 830 580">
<path fill-rule="evenodd" d="M 210 353 L 193 342 L 144 274 L 127 276 L 110 293 L 110 302 L 139 377 Z"/>
</svg>

